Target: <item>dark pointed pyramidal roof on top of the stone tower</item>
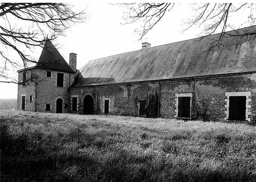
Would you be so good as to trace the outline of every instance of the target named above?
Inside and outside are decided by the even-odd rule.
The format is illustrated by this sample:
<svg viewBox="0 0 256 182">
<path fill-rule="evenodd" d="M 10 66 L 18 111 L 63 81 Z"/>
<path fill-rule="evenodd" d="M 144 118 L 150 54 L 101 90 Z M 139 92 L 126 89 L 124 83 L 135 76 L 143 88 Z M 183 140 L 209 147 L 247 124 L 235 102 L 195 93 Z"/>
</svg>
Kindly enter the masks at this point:
<svg viewBox="0 0 256 182">
<path fill-rule="evenodd" d="M 75 73 L 50 40 L 45 41 L 44 48 L 36 67 L 60 72 Z"/>
</svg>

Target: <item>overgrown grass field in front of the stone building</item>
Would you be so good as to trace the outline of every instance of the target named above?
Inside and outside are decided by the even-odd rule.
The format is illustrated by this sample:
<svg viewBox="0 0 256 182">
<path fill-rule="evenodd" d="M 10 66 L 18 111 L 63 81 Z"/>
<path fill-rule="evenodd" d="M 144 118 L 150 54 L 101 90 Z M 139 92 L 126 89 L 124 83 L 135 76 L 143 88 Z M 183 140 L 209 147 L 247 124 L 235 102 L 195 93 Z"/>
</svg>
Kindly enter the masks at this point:
<svg viewBox="0 0 256 182">
<path fill-rule="evenodd" d="M 1 111 L 1 181 L 256 181 L 256 127 Z"/>
</svg>

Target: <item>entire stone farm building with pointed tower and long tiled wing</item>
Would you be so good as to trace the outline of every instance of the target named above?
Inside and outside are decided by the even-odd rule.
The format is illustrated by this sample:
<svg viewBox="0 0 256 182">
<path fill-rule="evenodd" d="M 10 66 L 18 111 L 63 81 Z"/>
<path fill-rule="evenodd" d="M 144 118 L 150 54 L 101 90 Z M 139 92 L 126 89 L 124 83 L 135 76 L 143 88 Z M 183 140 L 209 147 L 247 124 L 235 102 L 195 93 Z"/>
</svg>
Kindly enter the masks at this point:
<svg viewBox="0 0 256 182">
<path fill-rule="evenodd" d="M 256 123 L 256 26 L 89 61 L 48 40 L 19 70 L 18 110 Z M 32 76 L 33 82 L 29 80 Z"/>
</svg>

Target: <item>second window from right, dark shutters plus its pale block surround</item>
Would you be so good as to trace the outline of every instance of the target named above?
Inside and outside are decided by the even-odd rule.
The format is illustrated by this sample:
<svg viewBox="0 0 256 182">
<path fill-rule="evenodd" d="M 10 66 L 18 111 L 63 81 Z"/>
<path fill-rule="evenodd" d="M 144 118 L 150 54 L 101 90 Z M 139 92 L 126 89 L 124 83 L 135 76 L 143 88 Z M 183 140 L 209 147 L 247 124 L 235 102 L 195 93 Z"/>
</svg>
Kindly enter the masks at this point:
<svg viewBox="0 0 256 182">
<path fill-rule="evenodd" d="M 192 97 L 194 93 L 175 94 L 175 118 L 191 118 Z"/>
</svg>

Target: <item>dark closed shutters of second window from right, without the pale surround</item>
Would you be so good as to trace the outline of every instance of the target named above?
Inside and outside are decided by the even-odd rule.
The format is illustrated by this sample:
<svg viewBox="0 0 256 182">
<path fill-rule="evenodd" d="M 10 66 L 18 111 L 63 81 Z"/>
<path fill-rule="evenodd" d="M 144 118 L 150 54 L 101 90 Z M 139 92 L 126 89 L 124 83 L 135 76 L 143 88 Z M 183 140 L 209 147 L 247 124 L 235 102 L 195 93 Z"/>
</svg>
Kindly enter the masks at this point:
<svg viewBox="0 0 256 182">
<path fill-rule="evenodd" d="M 178 98 L 178 117 L 190 118 L 190 97 Z"/>
</svg>

